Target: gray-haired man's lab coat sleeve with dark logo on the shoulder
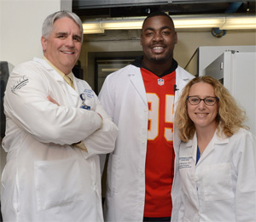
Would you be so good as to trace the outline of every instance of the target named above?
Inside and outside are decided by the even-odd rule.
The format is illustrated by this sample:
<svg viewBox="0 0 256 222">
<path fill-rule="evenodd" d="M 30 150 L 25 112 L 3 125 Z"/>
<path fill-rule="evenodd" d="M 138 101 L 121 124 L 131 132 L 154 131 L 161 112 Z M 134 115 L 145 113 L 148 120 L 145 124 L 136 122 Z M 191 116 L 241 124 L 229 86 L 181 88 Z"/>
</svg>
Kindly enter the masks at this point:
<svg viewBox="0 0 256 222">
<path fill-rule="evenodd" d="M 6 88 L 6 116 L 43 143 L 70 145 L 100 128 L 101 117 L 96 111 L 63 105 L 60 100 L 58 106 L 49 102 L 48 95 L 49 79 L 45 70 L 32 63 L 18 65 Z"/>
</svg>

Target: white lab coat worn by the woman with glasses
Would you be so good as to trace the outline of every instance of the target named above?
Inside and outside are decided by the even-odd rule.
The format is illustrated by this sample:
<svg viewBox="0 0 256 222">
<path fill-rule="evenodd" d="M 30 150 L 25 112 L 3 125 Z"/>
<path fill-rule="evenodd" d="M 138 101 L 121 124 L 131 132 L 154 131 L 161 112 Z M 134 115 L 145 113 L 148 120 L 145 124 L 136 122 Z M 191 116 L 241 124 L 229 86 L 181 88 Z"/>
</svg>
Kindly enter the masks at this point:
<svg viewBox="0 0 256 222">
<path fill-rule="evenodd" d="M 195 165 L 196 134 L 176 151 L 172 221 L 256 221 L 256 141 L 214 134 Z"/>
</svg>

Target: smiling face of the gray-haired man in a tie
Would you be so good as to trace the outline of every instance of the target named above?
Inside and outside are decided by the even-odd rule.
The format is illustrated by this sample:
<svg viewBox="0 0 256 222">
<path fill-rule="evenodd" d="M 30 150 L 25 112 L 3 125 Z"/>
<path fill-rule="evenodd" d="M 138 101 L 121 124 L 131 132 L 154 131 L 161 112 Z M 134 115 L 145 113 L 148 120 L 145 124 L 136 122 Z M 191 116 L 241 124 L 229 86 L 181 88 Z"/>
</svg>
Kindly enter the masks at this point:
<svg viewBox="0 0 256 222">
<path fill-rule="evenodd" d="M 81 39 L 79 26 L 73 20 L 67 17 L 55 20 L 48 39 L 41 38 L 44 56 L 59 70 L 69 74 L 79 60 Z"/>
</svg>

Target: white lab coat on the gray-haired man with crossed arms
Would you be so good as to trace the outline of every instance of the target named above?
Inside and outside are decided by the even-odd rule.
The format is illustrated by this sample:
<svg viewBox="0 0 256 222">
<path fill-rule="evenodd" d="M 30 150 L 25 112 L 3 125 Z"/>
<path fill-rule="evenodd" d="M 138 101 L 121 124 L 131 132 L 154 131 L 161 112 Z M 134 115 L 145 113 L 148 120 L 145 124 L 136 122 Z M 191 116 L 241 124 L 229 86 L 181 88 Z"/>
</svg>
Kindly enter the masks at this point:
<svg viewBox="0 0 256 222">
<path fill-rule="evenodd" d="M 117 128 L 88 83 L 74 77 L 74 86 L 46 60 L 18 65 L 10 75 L 4 98 L 4 221 L 103 220 L 97 154 L 113 151 Z M 79 108 L 79 94 L 90 111 Z M 103 117 L 101 129 L 96 112 Z M 81 140 L 88 152 L 71 145 Z"/>
</svg>

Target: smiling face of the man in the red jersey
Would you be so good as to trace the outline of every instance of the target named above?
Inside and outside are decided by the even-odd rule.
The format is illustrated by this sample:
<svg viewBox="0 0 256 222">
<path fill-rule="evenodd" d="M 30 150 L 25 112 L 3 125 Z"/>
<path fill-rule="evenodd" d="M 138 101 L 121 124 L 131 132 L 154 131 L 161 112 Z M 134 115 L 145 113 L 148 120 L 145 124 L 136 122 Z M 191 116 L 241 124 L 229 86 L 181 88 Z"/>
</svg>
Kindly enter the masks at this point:
<svg viewBox="0 0 256 222">
<path fill-rule="evenodd" d="M 172 20 L 159 15 L 145 21 L 141 45 L 143 46 L 143 60 L 147 63 L 163 64 L 172 60 L 176 43 L 177 33 Z"/>
</svg>

